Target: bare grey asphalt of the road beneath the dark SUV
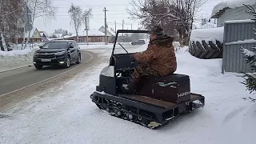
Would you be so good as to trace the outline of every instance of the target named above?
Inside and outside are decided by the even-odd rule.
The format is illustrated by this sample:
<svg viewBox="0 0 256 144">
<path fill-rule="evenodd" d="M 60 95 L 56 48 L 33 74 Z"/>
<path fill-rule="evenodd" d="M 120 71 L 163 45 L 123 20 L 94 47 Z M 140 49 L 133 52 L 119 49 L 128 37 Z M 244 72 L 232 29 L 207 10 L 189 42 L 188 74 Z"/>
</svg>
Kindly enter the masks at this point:
<svg viewBox="0 0 256 144">
<path fill-rule="evenodd" d="M 92 55 L 82 51 L 82 63 L 88 62 Z M 73 69 L 79 65 L 72 65 L 69 69 L 60 69 L 52 66 L 46 66 L 43 70 L 36 70 L 34 66 L 24 67 L 17 70 L 10 70 L 0 74 L 0 96 L 11 91 L 30 86 L 36 82 L 52 78 L 55 75 L 62 74 L 67 70 Z"/>
</svg>

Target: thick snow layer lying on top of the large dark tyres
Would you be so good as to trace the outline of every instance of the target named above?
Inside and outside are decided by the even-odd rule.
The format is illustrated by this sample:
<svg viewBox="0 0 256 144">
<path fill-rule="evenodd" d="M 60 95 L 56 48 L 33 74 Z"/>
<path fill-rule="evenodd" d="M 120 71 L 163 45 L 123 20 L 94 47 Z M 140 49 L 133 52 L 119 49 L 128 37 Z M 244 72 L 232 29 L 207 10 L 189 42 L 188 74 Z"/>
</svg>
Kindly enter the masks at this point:
<svg viewBox="0 0 256 144">
<path fill-rule="evenodd" d="M 195 29 L 190 34 L 190 42 L 202 42 L 202 40 L 223 42 L 224 26 L 210 29 Z"/>
</svg>

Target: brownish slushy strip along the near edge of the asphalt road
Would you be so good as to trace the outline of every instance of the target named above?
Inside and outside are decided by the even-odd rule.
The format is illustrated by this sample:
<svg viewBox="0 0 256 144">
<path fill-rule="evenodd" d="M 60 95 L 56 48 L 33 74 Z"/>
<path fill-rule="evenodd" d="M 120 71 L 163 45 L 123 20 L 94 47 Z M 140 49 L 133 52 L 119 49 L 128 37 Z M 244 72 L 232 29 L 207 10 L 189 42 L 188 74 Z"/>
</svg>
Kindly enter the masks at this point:
<svg viewBox="0 0 256 144">
<path fill-rule="evenodd" d="M 62 74 L 55 75 L 54 78 L 49 78 L 34 85 L 26 86 L 21 90 L 15 90 L 14 92 L 11 92 L 9 94 L 4 94 L 0 96 L 0 115 L 2 111 L 12 109 L 16 106 L 20 106 L 21 102 L 26 102 L 26 100 L 34 98 L 34 95 L 40 95 L 50 89 L 59 90 L 59 86 L 65 85 L 66 82 L 69 82 L 70 79 L 76 77 L 77 74 L 85 70 L 90 70 L 90 67 L 94 66 L 95 62 L 98 62 L 98 54 L 90 51 L 88 52 L 93 56 L 93 58 L 89 62 L 85 63 L 84 61 L 86 59 L 84 59 L 83 63 L 71 66 Z M 49 70 L 47 71 L 49 72 Z M 33 79 L 33 77 L 31 79 Z M 48 97 L 48 95 L 45 95 L 43 97 Z"/>
</svg>

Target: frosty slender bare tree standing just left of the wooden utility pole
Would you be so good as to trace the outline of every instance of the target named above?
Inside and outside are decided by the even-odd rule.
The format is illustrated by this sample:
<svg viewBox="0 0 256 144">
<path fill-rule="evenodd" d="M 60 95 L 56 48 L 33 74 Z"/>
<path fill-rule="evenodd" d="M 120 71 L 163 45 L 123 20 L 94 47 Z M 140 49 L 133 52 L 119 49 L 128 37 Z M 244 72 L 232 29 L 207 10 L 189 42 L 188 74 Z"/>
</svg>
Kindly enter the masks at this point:
<svg viewBox="0 0 256 144">
<path fill-rule="evenodd" d="M 80 29 L 82 23 L 85 22 L 85 18 L 86 17 L 90 18 L 92 16 L 91 11 L 92 9 L 90 8 L 89 10 L 85 10 L 84 12 L 82 12 L 82 8 L 80 6 L 74 6 L 73 3 L 70 6 L 70 10 L 68 11 L 71 18 L 70 25 L 72 25 L 72 23 L 74 25 L 74 30 L 75 30 L 75 33 L 77 34 L 77 38 L 76 38 L 77 42 L 78 42 L 78 30 Z"/>
</svg>

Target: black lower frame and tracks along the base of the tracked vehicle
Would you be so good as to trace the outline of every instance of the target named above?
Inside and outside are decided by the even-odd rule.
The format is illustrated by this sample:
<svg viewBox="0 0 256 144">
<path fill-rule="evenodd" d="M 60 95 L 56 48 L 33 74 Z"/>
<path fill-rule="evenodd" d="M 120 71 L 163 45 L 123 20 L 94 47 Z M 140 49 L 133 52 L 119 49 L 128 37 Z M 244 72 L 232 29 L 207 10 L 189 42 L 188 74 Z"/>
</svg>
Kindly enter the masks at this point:
<svg viewBox="0 0 256 144">
<path fill-rule="evenodd" d="M 110 115 L 153 130 L 166 125 L 174 118 L 178 118 L 180 114 L 189 113 L 204 106 L 203 96 L 190 99 L 190 101 L 168 109 L 99 92 L 94 92 L 90 98 L 99 109 L 106 110 Z M 197 100 L 201 103 L 194 103 Z"/>
</svg>

